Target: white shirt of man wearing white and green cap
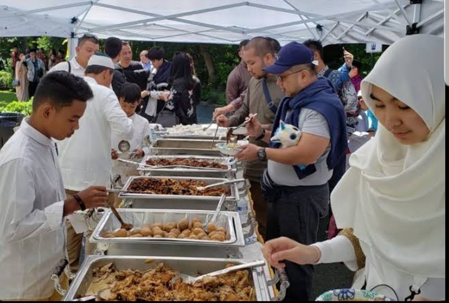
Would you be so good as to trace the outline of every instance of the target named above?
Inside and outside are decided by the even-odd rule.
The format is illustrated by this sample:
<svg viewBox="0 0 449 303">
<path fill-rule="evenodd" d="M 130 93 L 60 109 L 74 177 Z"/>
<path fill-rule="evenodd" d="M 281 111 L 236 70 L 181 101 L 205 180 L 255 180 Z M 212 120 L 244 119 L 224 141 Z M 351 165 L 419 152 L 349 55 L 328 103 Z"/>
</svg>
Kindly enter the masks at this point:
<svg viewBox="0 0 449 303">
<path fill-rule="evenodd" d="M 84 190 L 89 186 L 110 186 L 112 174 L 111 132 L 132 139 L 134 126 L 108 87 L 84 77 L 93 92 L 87 101 L 79 130 L 58 143 L 59 162 L 66 189 Z"/>
</svg>

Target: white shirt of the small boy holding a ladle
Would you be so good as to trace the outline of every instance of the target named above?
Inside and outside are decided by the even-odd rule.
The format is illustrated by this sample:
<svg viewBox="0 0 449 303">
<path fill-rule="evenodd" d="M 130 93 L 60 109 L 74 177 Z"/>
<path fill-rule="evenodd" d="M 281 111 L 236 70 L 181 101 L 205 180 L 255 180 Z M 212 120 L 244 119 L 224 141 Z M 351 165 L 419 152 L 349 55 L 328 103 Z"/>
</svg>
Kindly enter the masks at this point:
<svg viewBox="0 0 449 303">
<path fill-rule="evenodd" d="M 131 140 L 127 140 L 130 145 L 130 152 L 134 151 L 135 149 L 142 149 L 145 153 L 145 155 L 150 154 L 150 148 L 149 147 L 143 147 L 142 141 L 145 138 L 146 135 L 150 135 L 150 123 L 148 120 L 146 120 L 144 117 L 134 114 L 131 117 L 129 117 L 132 120 L 132 123 L 134 124 L 134 134 L 132 135 Z M 122 136 L 113 133 L 112 134 L 112 148 L 116 151 L 119 150 L 119 142 L 122 141 Z M 120 158 L 127 159 L 129 156 L 121 154 L 119 155 Z M 119 161 L 113 161 L 112 163 L 112 173 L 114 175 L 119 174 L 122 177 L 122 180 L 124 181 L 128 176 L 133 175 L 136 173 L 136 165 L 133 164 L 126 164 Z"/>
</svg>

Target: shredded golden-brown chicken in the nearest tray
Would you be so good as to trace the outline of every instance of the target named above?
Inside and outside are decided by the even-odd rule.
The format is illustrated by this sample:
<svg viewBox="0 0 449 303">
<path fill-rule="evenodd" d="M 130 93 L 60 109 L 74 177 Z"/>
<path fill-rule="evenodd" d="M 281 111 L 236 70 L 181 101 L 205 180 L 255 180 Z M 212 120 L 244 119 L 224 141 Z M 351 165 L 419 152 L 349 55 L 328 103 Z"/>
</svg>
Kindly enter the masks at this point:
<svg viewBox="0 0 449 303">
<path fill-rule="evenodd" d="M 194 285 L 181 279 L 172 281 L 176 271 L 163 263 L 146 272 L 117 270 L 113 263 L 93 272 L 92 285 L 114 280 L 107 301 L 253 301 L 254 288 L 249 271 L 242 270 L 218 277 L 206 277 Z"/>
</svg>

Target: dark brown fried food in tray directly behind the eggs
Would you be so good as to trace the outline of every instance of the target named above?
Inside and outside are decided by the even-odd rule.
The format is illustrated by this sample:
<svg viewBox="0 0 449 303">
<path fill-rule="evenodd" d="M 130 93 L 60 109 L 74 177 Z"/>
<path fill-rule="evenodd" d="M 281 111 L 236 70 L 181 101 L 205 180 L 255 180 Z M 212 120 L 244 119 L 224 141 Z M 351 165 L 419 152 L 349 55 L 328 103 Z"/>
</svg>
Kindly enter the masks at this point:
<svg viewBox="0 0 449 303">
<path fill-rule="evenodd" d="M 127 190 L 140 191 L 154 195 L 188 195 L 188 196 L 214 196 L 229 195 L 229 190 L 223 187 L 211 187 L 198 190 L 197 186 L 206 186 L 207 183 L 198 180 L 174 180 L 141 178 L 134 179 Z"/>
</svg>

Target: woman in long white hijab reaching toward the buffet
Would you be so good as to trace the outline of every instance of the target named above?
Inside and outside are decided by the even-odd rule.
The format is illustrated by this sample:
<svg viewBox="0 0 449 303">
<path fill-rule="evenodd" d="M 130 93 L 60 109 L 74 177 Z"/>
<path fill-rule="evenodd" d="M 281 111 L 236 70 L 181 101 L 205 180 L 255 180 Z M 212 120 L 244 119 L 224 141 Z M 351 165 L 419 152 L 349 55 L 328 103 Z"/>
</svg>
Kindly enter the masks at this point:
<svg viewBox="0 0 449 303">
<path fill-rule="evenodd" d="M 267 242 L 270 264 L 345 262 L 354 271 L 364 268 L 354 287 L 366 282 L 367 290 L 395 293 L 399 301 L 419 300 L 418 294 L 445 298 L 443 52 L 442 38 L 414 35 L 381 56 L 361 84 L 381 125 L 351 156 L 331 195 L 343 234 L 311 246 L 286 238 Z"/>
</svg>

